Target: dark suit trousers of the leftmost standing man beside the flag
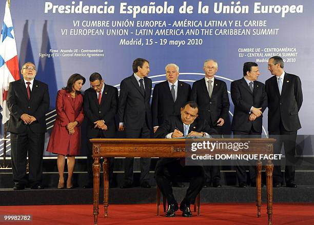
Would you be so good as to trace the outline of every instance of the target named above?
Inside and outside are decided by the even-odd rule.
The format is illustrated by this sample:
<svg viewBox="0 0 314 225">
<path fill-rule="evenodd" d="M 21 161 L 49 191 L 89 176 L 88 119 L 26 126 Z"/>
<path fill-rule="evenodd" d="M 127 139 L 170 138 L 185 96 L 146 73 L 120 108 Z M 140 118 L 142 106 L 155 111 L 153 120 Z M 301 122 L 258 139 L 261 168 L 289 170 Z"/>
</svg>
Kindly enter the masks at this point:
<svg viewBox="0 0 314 225">
<path fill-rule="evenodd" d="M 12 172 L 15 185 L 41 185 L 43 179 L 43 154 L 45 133 L 34 133 L 27 126 L 25 133 L 11 133 Z M 26 175 L 26 161 L 29 174 Z"/>
</svg>

